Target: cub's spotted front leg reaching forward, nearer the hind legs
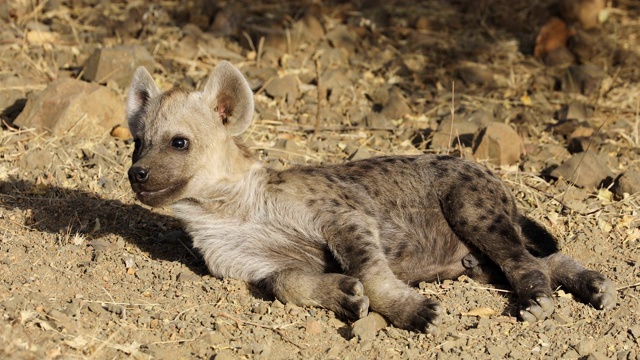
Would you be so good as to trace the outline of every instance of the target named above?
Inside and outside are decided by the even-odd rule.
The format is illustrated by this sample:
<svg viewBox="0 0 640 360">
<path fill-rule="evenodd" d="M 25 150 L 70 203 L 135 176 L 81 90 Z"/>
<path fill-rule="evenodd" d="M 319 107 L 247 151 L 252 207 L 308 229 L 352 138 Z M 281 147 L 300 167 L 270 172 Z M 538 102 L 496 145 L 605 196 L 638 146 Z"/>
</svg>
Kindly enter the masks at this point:
<svg viewBox="0 0 640 360">
<path fill-rule="evenodd" d="M 376 229 L 375 223 L 354 211 L 334 218 L 325 236 L 344 272 L 364 285 L 372 310 L 399 328 L 435 332 L 440 323 L 440 305 L 393 274 Z"/>
</svg>

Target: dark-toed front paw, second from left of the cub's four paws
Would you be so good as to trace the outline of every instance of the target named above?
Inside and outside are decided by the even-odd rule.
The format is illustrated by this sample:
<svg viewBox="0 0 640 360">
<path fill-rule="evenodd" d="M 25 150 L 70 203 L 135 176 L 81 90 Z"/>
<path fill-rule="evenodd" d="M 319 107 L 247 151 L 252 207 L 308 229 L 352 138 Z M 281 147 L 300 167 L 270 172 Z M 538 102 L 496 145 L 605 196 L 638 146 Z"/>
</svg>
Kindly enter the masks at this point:
<svg viewBox="0 0 640 360">
<path fill-rule="evenodd" d="M 440 304 L 424 297 L 414 304 L 403 304 L 394 310 L 397 313 L 392 312 L 387 317 L 399 328 L 435 335 L 442 322 Z"/>
</svg>

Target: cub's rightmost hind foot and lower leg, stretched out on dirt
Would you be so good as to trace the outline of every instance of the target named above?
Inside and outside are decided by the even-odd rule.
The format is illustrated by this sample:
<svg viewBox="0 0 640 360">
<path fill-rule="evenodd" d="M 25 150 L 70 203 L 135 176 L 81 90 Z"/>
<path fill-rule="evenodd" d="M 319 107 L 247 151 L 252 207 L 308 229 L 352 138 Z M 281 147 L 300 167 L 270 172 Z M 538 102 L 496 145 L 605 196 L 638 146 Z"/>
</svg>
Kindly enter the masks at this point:
<svg viewBox="0 0 640 360">
<path fill-rule="evenodd" d="M 549 268 L 552 286 L 564 287 L 598 310 L 611 309 L 616 305 L 616 288 L 604 275 L 585 268 L 564 254 L 552 254 L 542 260 Z"/>
</svg>

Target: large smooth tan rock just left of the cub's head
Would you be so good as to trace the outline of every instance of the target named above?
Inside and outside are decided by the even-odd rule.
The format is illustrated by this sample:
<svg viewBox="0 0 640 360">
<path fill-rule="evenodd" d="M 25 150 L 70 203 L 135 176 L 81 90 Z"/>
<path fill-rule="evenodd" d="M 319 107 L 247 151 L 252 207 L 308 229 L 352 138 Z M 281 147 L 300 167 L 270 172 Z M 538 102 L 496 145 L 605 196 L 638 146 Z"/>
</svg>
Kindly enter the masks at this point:
<svg viewBox="0 0 640 360">
<path fill-rule="evenodd" d="M 63 78 L 32 94 L 14 124 L 49 131 L 95 136 L 125 118 L 122 100 L 104 86 Z"/>
</svg>

